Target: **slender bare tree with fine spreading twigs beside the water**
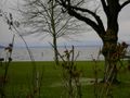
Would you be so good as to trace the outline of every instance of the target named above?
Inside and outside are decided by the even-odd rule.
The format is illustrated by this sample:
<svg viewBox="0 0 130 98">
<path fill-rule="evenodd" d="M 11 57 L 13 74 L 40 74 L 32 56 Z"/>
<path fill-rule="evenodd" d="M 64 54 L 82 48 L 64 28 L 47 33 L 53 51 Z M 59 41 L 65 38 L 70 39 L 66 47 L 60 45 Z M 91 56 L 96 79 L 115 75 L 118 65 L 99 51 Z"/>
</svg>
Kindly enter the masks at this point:
<svg viewBox="0 0 130 98">
<path fill-rule="evenodd" d="M 64 11 L 61 11 L 55 0 L 25 0 L 20 11 L 24 17 L 22 24 L 27 32 L 25 35 L 38 33 L 52 36 L 55 62 L 58 64 L 57 38 L 76 34 L 80 23 L 63 14 Z"/>
</svg>

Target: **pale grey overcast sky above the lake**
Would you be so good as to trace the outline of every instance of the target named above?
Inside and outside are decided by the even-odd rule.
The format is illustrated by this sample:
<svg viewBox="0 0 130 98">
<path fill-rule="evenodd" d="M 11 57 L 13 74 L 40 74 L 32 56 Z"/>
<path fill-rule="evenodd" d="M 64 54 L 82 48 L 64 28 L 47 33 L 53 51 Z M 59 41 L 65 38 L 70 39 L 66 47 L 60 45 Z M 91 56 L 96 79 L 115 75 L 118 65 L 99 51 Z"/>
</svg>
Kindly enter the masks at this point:
<svg viewBox="0 0 130 98">
<path fill-rule="evenodd" d="M 6 12 L 13 12 L 15 15 L 15 12 L 11 9 L 15 7 L 16 0 L 1 0 L 0 2 L 0 9 L 3 9 Z M 126 41 L 130 44 L 130 4 L 122 9 L 122 11 L 119 14 L 119 34 L 118 38 L 119 41 Z M 103 16 L 103 19 L 105 19 Z M 105 22 L 105 20 L 104 20 Z M 86 27 L 86 25 L 84 25 Z M 0 17 L 0 45 L 8 45 L 12 41 L 14 32 L 9 30 L 9 26 L 6 25 L 5 21 Z M 42 38 L 38 35 L 29 35 L 25 36 L 24 39 L 28 44 L 28 46 L 47 46 L 52 41 L 51 37 Z M 57 44 L 62 46 L 66 45 L 102 45 L 102 41 L 100 37 L 94 33 L 94 30 L 86 30 L 82 34 L 74 35 L 68 38 L 67 36 L 64 38 L 58 38 Z M 15 36 L 15 46 L 24 46 L 24 42 L 22 39 L 16 35 Z"/>
</svg>

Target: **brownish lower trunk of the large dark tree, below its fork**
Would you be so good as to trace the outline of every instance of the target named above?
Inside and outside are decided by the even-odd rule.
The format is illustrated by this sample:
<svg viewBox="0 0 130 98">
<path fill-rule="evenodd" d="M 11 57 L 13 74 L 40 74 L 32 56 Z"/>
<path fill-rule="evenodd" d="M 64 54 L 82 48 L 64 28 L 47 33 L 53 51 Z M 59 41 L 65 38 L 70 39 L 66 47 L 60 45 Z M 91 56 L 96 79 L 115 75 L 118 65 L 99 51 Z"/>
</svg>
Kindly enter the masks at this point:
<svg viewBox="0 0 130 98">
<path fill-rule="evenodd" d="M 102 53 L 105 58 L 104 82 L 117 83 L 117 35 L 108 29 L 103 39 Z"/>
</svg>

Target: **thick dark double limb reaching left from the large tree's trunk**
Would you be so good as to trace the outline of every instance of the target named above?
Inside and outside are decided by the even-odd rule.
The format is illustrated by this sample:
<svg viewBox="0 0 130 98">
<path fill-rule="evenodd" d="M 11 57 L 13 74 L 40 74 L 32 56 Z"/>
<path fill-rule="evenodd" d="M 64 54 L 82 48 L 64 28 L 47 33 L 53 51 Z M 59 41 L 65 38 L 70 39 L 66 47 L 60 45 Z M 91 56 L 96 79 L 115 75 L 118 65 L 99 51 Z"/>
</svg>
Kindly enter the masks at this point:
<svg viewBox="0 0 130 98">
<path fill-rule="evenodd" d="M 73 7 L 73 5 L 68 4 L 66 2 L 66 0 L 65 1 L 64 0 L 60 0 L 60 1 L 58 1 L 58 3 L 61 5 L 63 5 L 67 10 L 69 15 L 75 16 L 76 19 L 78 19 L 78 20 L 87 23 L 88 25 L 90 25 L 99 34 L 99 36 L 103 35 L 103 33 L 105 32 L 105 28 L 103 26 L 103 22 L 101 21 L 100 16 L 98 14 L 95 14 L 94 12 L 92 12 L 92 11 L 90 11 L 88 9 Z M 89 17 L 82 16 L 77 11 L 87 12 L 87 13 L 91 14 L 95 19 L 95 21 L 98 23 L 92 21 L 92 20 L 90 20 Z"/>
</svg>

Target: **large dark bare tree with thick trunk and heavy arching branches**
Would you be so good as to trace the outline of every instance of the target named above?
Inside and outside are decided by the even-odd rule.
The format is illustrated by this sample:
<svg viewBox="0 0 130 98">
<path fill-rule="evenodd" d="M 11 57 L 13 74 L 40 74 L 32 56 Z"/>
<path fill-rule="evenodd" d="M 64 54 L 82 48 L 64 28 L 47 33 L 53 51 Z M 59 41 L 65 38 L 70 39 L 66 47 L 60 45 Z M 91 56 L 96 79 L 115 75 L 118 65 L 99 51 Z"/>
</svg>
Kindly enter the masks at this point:
<svg viewBox="0 0 130 98">
<path fill-rule="evenodd" d="M 65 11 L 70 16 L 75 16 L 76 19 L 84 22 L 89 26 L 91 26 L 95 33 L 100 36 L 103 41 L 102 53 L 105 58 L 105 68 L 108 68 L 110 71 L 112 68 L 112 75 L 108 79 L 113 79 L 113 82 L 117 82 L 117 60 L 116 51 L 118 45 L 118 16 L 119 12 L 130 3 L 130 0 L 80 0 L 80 2 L 84 3 L 83 8 L 79 7 L 78 3 L 73 3 L 75 0 L 55 0 L 63 7 Z M 91 2 L 100 2 L 103 9 L 103 12 L 106 15 L 107 25 L 105 27 L 104 20 L 101 19 L 99 15 L 98 10 L 95 8 L 94 11 L 88 9 L 88 1 Z M 89 14 L 91 17 L 88 17 Z"/>
</svg>

